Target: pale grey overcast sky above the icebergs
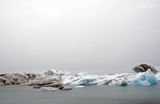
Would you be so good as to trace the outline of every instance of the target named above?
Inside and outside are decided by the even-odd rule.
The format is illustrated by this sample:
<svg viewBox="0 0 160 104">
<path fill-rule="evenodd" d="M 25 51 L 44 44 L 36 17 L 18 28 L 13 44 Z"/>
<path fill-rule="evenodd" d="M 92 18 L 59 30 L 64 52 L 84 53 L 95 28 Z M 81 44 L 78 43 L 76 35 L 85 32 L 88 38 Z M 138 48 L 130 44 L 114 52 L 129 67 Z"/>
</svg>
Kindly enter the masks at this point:
<svg viewBox="0 0 160 104">
<path fill-rule="evenodd" d="M 0 73 L 160 65 L 160 0 L 0 0 Z"/>
</svg>

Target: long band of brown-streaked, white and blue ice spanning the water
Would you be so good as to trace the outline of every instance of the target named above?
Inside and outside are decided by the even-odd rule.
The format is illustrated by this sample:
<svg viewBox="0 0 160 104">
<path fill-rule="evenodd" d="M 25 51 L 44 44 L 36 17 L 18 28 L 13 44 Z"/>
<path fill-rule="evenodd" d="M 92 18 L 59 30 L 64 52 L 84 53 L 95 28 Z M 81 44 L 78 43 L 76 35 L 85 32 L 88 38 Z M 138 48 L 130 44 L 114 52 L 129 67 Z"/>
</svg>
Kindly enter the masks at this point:
<svg viewBox="0 0 160 104">
<path fill-rule="evenodd" d="M 138 70 L 138 69 L 137 69 Z M 26 85 L 42 90 L 55 90 L 64 88 L 81 88 L 92 85 L 111 85 L 111 86 L 150 86 L 156 85 L 160 81 L 160 73 L 151 69 L 138 73 L 119 73 L 119 74 L 90 74 L 87 72 L 70 73 L 55 69 L 47 70 L 43 73 L 14 73 L 0 74 L 0 86 L 4 85 Z M 53 89 L 52 89 L 53 88 Z M 55 88 L 55 89 L 54 89 Z"/>
</svg>

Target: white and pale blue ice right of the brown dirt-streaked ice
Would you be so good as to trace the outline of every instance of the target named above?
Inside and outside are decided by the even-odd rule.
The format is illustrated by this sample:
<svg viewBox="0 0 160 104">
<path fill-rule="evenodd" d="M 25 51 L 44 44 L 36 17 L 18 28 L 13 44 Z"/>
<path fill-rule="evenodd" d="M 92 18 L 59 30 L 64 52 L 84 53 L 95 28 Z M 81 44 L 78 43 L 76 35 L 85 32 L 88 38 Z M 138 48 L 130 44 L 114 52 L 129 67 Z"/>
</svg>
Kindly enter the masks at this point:
<svg viewBox="0 0 160 104">
<path fill-rule="evenodd" d="M 160 80 L 160 73 L 154 74 L 150 69 L 146 72 L 137 74 L 121 73 L 92 75 L 86 72 L 78 74 L 64 74 L 62 83 L 74 86 L 90 86 L 90 85 L 119 85 L 119 86 L 142 86 L 155 85 Z"/>
</svg>

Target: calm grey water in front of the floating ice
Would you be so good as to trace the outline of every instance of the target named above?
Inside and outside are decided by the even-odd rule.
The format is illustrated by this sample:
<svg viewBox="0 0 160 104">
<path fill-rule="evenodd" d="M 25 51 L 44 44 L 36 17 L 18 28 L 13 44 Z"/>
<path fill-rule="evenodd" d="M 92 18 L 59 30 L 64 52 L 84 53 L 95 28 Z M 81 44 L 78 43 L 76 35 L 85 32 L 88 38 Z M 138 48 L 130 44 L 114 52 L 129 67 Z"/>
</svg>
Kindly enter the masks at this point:
<svg viewBox="0 0 160 104">
<path fill-rule="evenodd" d="M 0 87 L 0 104 L 160 104 L 160 85 L 90 86 L 42 92 L 31 87 Z"/>
</svg>

